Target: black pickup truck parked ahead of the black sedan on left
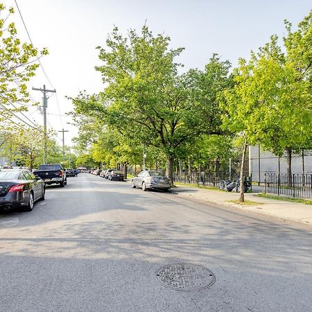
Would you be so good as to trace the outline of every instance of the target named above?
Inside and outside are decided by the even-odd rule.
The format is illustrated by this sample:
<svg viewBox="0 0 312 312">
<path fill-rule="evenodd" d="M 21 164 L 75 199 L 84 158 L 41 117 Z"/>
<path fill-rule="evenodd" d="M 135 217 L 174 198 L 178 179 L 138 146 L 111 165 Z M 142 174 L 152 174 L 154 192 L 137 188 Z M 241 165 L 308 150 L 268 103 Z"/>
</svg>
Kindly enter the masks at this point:
<svg viewBox="0 0 312 312">
<path fill-rule="evenodd" d="M 60 184 L 60 187 L 64 187 L 67 184 L 66 173 L 61 164 L 42 164 L 33 174 L 41 177 L 48 185 Z"/>
</svg>

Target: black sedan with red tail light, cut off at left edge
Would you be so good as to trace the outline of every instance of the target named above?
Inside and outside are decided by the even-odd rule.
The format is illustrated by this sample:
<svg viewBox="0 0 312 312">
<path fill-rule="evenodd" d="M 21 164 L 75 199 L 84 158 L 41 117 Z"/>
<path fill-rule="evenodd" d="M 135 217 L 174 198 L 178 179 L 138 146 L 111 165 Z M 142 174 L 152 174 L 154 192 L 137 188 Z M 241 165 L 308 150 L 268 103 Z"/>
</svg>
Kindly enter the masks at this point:
<svg viewBox="0 0 312 312">
<path fill-rule="evenodd" d="M 0 171 L 0 207 L 24 207 L 32 211 L 36 200 L 44 200 L 44 182 L 25 169 Z"/>
</svg>

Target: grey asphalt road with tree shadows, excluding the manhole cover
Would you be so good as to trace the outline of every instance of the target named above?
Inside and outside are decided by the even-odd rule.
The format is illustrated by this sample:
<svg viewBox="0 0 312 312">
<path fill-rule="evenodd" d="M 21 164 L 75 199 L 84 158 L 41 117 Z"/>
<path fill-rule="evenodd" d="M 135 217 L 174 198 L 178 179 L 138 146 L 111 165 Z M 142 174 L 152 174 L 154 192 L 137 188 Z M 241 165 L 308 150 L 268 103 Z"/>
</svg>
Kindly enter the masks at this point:
<svg viewBox="0 0 312 312">
<path fill-rule="evenodd" d="M 156 280 L 171 263 L 202 291 Z M 0 311 L 312 311 L 312 232 L 80 174 L 32 212 L 0 213 Z"/>
</svg>

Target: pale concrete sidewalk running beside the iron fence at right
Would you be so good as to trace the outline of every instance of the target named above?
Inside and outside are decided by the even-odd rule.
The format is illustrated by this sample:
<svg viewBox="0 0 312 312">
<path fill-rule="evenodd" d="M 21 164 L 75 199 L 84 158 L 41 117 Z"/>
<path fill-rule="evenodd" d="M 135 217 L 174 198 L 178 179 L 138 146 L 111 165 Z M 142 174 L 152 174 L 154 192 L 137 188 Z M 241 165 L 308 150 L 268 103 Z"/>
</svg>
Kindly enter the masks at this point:
<svg viewBox="0 0 312 312">
<path fill-rule="evenodd" d="M 200 189 L 196 187 L 175 187 L 171 189 L 171 191 L 172 193 L 185 198 L 193 198 L 215 204 L 233 206 L 247 211 L 266 214 L 282 220 L 295 221 L 312 226 L 312 205 L 260 198 L 255 196 L 257 193 L 245 193 L 245 200 L 259 202 L 259 205 L 241 206 L 229 202 L 229 200 L 239 200 L 239 193 Z"/>
</svg>

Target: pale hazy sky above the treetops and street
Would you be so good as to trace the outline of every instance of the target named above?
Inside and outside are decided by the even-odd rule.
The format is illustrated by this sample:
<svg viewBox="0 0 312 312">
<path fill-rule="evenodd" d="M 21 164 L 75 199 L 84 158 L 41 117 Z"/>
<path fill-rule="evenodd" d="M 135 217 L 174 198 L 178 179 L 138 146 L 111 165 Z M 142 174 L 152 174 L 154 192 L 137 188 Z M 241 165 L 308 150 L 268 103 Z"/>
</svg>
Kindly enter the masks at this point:
<svg viewBox="0 0 312 312">
<path fill-rule="evenodd" d="M 12 21 L 18 37 L 29 42 L 15 0 L 0 0 L 15 8 Z M 184 70 L 203 69 L 213 53 L 229 60 L 235 67 L 239 58 L 249 58 L 250 51 L 263 46 L 270 35 L 286 35 L 284 19 L 294 28 L 309 14 L 311 0 L 16 0 L 31 40 L 37 49 L 46 47 L 49 55 L 41 59 L 41 68 L 28 83 L 32 101 L 42 101 L 41 92 L 32 87 L 46 85 L 56 89 L 48 101 L 48 128 L 65 133 L 65 144 L 78 129 L 70 125 L 66 112 L 73 110 L 66 96 L 75 97 L 86 90 L 93 94 L 103 89 L 101 65 L 96 46 L 105 48 L 105 40 L 114 26 L 121 33 L 140 30 L 146 23 L 153 33 L 171 37 L 171 47 L 184 47 L 178 59 Z M 51 85 L 52 84 L 52 85 Z M 43 123 L 37 108 L 24 113 Z M 58 143 L 62 133 L 58 132 Z"/>
</svg>

